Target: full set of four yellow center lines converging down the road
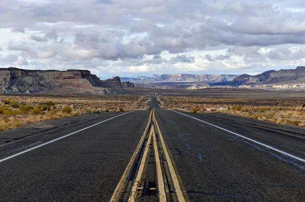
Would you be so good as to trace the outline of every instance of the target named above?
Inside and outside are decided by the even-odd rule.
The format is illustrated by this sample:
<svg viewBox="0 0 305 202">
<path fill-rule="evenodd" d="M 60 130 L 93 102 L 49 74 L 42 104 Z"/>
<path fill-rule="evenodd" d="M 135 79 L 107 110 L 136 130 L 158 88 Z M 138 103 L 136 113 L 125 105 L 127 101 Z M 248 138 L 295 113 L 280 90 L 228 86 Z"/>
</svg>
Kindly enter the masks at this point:
<svg viewBox="0 0 305 202">
<path fill-rule="evenodd" d="M 150 130 L 150 132 L 149 132 Z M 156 130 L 156 131 L 155 131 Z M 149 134 L 148 134 L 149 132 Z M 157 134 L 159 134 L 159 138 L 160 140 L 158 140 L 157 138 Z M 147 137 L 148 134 L 148 137 Z M 144 147 L 144 142 L 146 141 L 146 146 L 145 149 L 141 150 L 141 148 Z M 161 130 L 159 128 L 159 125 L 157 123 L 156 117 L 155 117 L 155 110 L 152 110 L 149 114 L 149 119 L 148 119 L 148 123 L 147 126 L 144 130 L 144 133 L 138 143 L 138 146 L 135 150 L 135 152 L 132 155 L 131 160 L 129 161 L 123 176 L 121 177 L 119 183 L 116 186 L 116 189 L 110 199 L 110 202 L 118 202 L 118 201 L 127 201 L 126 198 L 126 192 L 129 192 L 129 197 L 128 197 L 128 201 L 133 202 L 133 201 L 141 201 L 140 198 L 137 198 L 137 192 L 139 190 L 139 184 L 141 181 L 143 181 L 143 174 L 144 174 L 144 170 L 145 170 L 145 166 L 147 165 L 148 162 L 148 157 L 149 157 L 149 145 L 151 142 L 151 139 L 153 139 L 153 149 L 154 149 L 154 154 L 155 154 L 155 162 L 156 162 L 156 170 L 157 170 L 157 184 L 158 184 L 158 198 L 159 201 L 161 202 L 167 202 L 167 201 L 173 201 L 172 197 L 170 196 L 172 193 L 169 193 L 169 189 L 166 188 L 166 186 L 168 186 L 168 182 L 166 182 L 166 176 L 170 175 L 171 178 L 171 184 L 174 187 L 174 193 L 175 193 L 175 201 L 181 201 L 181 202 L 185 202 L 188 201 L 187 199 L 187 194 L 186 191 L 182 191 L 184 190 L 182 188 L 182 184 L 180 181 L 180 177 L 178 175 L 177 170 L 175 169 L 174 166 L 174 162 L 173 162 L 173 158 L 166 146 L 165 140 L 163 138 L 163 135 L 161 133 Z M 158 141 L 161 142 L 161 145 L 158 144 Z M 158 147 L 159 145 L 159 147 Z M 165 163 L 167 163 L 167 167 L 168 173 L 165 173 L 165 168 L 164 165 L 162 166 L 162 162 L 160 160 L 160 146 L 163 149 L 163 153 L 165 155 L 165 159 L 166 161 L 164 161 Z M 162 150 L 161 149 L 161 150 Z M 138 159 L 138 157 L 140 156 L 140 153 L 143 152 L 142 155 L 142 159 L 139 163 L 139 167 L 137 169 L 137 173 L 134 179 L 129 179 L 129 175 L 134 167 L 134 164 Z M 162 169 L 163 168 L 163 169 Z M 132 182 L 131 182 L 132 180 Z M 131 189 L 128 189 L 128 185 L 132 184 Z M 123 199 L 123 195 L 125 195 L 125 199 Z"/>
</svg>

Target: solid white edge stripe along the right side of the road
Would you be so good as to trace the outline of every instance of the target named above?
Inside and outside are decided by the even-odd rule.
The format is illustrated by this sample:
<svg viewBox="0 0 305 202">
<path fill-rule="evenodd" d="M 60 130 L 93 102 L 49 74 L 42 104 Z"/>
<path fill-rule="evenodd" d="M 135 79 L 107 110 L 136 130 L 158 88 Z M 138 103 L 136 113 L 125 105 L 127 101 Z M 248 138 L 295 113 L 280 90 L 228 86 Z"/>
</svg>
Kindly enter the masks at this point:
<svg viewBox="0 0 305 202">
<path fill-rule="evenodd" d="M 174 110 L 171 110 L 171 111 L 174 111 Z M 243 135 L 239 135 L 239 134 L 237 134 L 237 133 L 235 133 L 235 132 L 232 132 L 232 131 L 230 131 L 230 130 L 224 129 L 224 128 L 219 127 L 219 126 L 216 126 L 216 125 L 214 125 L 214 124 L 210 124 L 210 123 L 205 122 L 205 121 L 202 121 L 202 120 L 200 120 L 200 119 L 191 117 L 191 116 L 189 116 L 189 115 L 187 115 L 187 114 L 184 114 L 184 113 L 181 113 L 181 112 L 178 112 L 178 111 L 174 111 L 174 112 L 180 113 L 180 114 L 182 114 L 182 115 L 184 115 L 184 116 L 186 116 L 186 117 L 190 117 L 190 118 L 195 119 L 195 120 L 197 120 L 197 121 L 201 121 L 201 122 L 203 122 L 203 123 L 205 123 L 205 124 L 208 124 L 208 125 L 210 125 L 210 126 L 214 126 L 214 127 L 216 127 L 216 128 L 219 128 L 219 129 L 224 130 L 224 131 L 226 131 L 226 132 L 229 132 L 229 133 L 231 133 L 231 134 L 237 135 L 237 136 L 239 136 L 239 137 L 248 139 L 248 140 L 250 140 L 250 141 L 252 141 L 252 142 L 257 143 L 258 145 L 264 146 L 264 147 L 266 147 L 266 148 L 268 148 L 268 149 L 274 150 L 274 151 L 279 152 L 279 153 L 281 153 L 281 154 L 285 154 L 285 155 L 287 155 L 287 156 L 289 156 L 289 157 L 291 157 L 291 158 L 297 159 L 297 160 L 299 160 L 299 161 L 305 163 L 305 159 L 299 158 L 299 157 L 294 156 L 294 155 L 292 155 L 292 154 L 289 154 L 289 153 L 287 153 L 287 152 L 284 152 L 284 151 L 278 150 L 278 149 L 276 149 L 276 148 L 273 148 L 273 147 L 271 147 L 271 146 L 265 145 L 264 143 L 261 143 L 261 142 L 259 142 L 259 141 L 254 140 L 254 139 L 251 139 L 251 138 L 249 138 L 249 137 L 246 137 L 246 136 L 243 136 Z"/>
</svg>

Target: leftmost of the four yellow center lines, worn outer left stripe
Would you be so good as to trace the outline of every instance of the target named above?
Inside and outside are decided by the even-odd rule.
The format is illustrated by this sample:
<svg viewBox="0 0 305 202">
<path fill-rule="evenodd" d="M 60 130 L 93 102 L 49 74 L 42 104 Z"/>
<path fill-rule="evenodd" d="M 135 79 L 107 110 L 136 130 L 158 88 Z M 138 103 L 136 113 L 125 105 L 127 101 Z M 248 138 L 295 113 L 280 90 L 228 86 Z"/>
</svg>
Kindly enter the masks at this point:
<svg viewBox="0 0 305 202">
<path fill-rule="evenodd" d="M 128 177 L 129 171 L 131 170 L 132 165 L 133 165 L 133 163 L 134 163 L 134 161 L 135 161 L 135 159 L 136 159 L 136 157 L 137 157 L 137 155 L 138 155 L 138 153 L 139 153 L 139 151 L 140 151 L 140 149 L 141 149 L 141 147 L 143 145 L 145 136 L 146 136 L 146 134 L 148 132 L 148 129 L 149 129 L 149 126 L 151 124 L 152 114 L 153 114 L 153 111 L 151 111 L 150 114 L 149 114 L 149 119 L 148 119 L 147 126 L 146 126 L 146 128 L 145 128 L 145 130 L 143 132 L 143 135 L 142 135 L 142 137 L 141 137 L 141 139 L 140 139 L 140 141 L 138 143 L 138 146 L 137 146 L 135 152 L 133 153 L 133 155 L 132 155 L 132 157 L 131 157 L 131 159 L 130 159 L 130 161 L 129 161 L 129 163 L 128 163 L 128 165 L 127 165 L 127 167 L 126 167 L 126 169 L 125 169 L 125 171 L 124 171 L 124 173 L 122 175 L 122 177 L 120 178 L 120 181 L 118 182 L 118 184 L 117 184 L 117 186 L 116 186 L 116 188 L 114 190 L 114 193 L 112 194 L 112 196 L 110 198 L 110 202 L 117 202 L 117 201 L 119 201 L 120 194 L 123 192 L 123 190 L 126 187 L 126 184 L 128 182 L 127 177 Z"/>
</svg>

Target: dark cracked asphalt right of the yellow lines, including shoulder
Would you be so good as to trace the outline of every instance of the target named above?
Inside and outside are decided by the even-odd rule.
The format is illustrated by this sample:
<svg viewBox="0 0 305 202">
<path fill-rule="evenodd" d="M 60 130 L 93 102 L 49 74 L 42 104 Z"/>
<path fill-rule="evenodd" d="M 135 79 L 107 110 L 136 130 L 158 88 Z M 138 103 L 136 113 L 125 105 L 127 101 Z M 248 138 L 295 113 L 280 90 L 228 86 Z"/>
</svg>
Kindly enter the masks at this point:
<svg viewBox="0 0 305 202">
<path fill-rule="evenodd" d="M 186 114 L 304 157 L 303 128 Z M 156 119 L 190 201 L 305 201 L 305 163 L 174 111 Z"/>
</svg>

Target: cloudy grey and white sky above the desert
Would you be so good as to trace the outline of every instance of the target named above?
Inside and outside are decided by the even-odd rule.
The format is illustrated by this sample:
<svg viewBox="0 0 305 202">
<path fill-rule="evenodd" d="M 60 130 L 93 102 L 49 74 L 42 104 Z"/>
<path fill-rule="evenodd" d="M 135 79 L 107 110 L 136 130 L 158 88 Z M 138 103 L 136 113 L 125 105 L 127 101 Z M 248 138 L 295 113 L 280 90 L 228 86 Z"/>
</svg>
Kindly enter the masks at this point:
<svg viewBox="0 0 305 202">
<path fill-rule="evenodd" d="M 303 0 L 1 0 L 0 67 L 100 78 L 305 65 Z"/>
</svg>

